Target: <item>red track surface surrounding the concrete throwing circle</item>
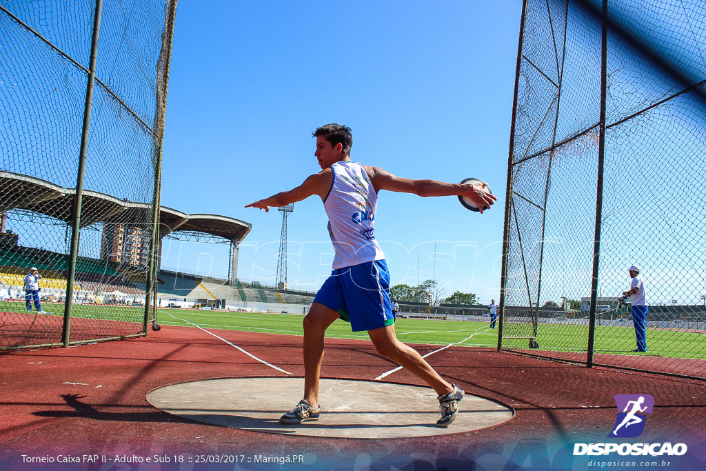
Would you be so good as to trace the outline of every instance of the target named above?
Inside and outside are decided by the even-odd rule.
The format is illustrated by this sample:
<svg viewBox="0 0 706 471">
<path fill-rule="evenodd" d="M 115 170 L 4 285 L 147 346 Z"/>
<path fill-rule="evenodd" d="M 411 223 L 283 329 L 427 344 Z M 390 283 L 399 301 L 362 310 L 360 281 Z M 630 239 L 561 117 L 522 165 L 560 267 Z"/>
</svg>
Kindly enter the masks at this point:
<svg viewBox="0 0 706 471">
<path fill-rule="evenodd" d="M 233 330 L 217 333 L 275 366 L 297 376 L 304 374 L 300 337 Z M 422 354 L 438 348 L 414 347 Z M 688 440 L 690 453 L 706 462 L 703 381 L 587 369 L 467 347 L 450 347 L 433 354 L 429 362 L 467 393 L 510 405 L 515 418 L 472 434 L 385 441 L 311 439 L 190 422 L 155 409 L 145 396 L 154 388 L 179 381 L 280 375 L 196 328 L 162 326 L 147 338 L 3 352 L 0 469 L 113 469 L 87 463 L 37 467 L 23 463 L 21 457 L 91 453 L 128 457 L 301 453 L 309 463 L 307 469 L 366 465 L 414 469 L 419 463 L 426 464 L 418 469 L 467 469 L 473 462 L 542 464 L 543 456 L 554 459 L 556 465 L 562 447 L 578 441 L 606 441 L 616 420 L 613 396 L 619 393 L 654 396 L 654 412 L 640 441 Z M 372 380 L 393 367 L 377 356 L 367 340 L 326 340 L 322 377 Z M 421 384 L 406 371 L 385 381 Z M 269 393 L 253 391 L 263 400 Z M 137 469 L 131 466 L 126 469 Z M 190 466 L 179 468 L 172 463 L 140 469 L 238 469 L 232 464 Z M 243 465 L 242 469 L 297 469 L 270 466 Z"/>
</svg>

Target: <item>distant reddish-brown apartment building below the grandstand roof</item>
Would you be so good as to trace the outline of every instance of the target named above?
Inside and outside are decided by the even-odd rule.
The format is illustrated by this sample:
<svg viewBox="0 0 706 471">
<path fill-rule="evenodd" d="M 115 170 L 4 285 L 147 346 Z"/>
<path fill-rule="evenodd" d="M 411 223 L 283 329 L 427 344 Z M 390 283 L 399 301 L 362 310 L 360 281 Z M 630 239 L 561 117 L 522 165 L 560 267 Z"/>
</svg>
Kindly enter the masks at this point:
<svg viewBox="0 0 706 471">
<path fill-rule="evenodd" d="M 147 268 L 150 253 L 148 229 L 127 224 L 103 225 L 100 258 L 114 263 Z"/>
</svg>

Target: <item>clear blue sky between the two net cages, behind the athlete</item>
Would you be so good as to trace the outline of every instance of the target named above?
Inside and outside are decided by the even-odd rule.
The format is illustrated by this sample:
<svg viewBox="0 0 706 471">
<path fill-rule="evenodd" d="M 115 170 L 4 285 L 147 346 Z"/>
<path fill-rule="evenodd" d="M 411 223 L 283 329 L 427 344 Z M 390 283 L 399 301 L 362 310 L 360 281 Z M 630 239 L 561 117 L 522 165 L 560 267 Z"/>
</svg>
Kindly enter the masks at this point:
<svg viewBox="0 0 706 471">
<path fill-rule="evenodd" d="M 455 196 L 381 192 L 376 237 L 393 285 L 498 300 L 520 0 L 215 1 L 177 8 L 162 205 L 250 222 L 239 278 L 274 285 L 281 213 L 244 205 L 319 170 L 311 131 L 352 128 L 351 157 L 406 178 L 478 177 Z M 321 200 L 289 217 L 288 282 L 316 290 L 333 247 Z M 435 256 L 436 253 L 436 256 Z M 164 240 L 162 268 L 226 278 L 227 246 Z"/>
</svg>

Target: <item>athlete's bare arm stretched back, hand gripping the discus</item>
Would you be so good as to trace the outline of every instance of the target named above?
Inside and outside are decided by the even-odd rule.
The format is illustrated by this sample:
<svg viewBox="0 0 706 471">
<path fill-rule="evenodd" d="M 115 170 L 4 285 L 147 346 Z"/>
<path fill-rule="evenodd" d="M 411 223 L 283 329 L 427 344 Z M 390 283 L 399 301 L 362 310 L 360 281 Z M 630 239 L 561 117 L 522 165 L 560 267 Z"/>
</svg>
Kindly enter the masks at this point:
<svg viewBox="0 0 706 471">
<path fill-rule="evenodd" d="M 396 177 L 380 167 L 365 167 L 376 191 L 388 190 L 399 193 L 414 193 L 418 196 L 468 196 L 479 207 L 481 214 L 489 209 L 498 198 L 489 193 L 487 184 L 445 183 L 436 180 L 413 180 Z"/>
</svg>

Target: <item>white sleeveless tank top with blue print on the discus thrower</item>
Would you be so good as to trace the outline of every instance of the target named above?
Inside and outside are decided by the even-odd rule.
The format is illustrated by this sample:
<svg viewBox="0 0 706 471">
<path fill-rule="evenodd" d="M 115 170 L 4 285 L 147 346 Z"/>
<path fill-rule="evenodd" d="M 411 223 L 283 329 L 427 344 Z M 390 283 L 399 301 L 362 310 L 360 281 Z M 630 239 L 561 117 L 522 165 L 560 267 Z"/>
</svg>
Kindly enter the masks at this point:
<svg viewBox="0 0 706 471">
<path fill-rule="evenodd" d="M 323 208 L 328 215 L 328 234 L 335 256 L 333 269 L 383 260 L 385 254 L 375 239 L 373 221 L 378 194 L 359 162 L 336 162 L 333 183 Z"/>
</svg>

